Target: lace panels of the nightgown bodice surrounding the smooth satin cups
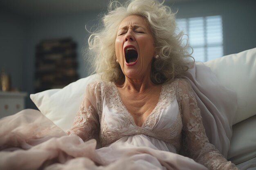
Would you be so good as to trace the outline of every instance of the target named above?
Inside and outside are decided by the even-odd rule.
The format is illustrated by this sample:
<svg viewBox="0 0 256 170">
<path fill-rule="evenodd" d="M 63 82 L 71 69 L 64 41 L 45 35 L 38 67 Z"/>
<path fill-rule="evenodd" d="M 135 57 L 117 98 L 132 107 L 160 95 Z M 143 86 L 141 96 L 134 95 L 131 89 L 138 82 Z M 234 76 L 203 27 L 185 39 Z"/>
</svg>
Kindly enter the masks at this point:
<svg viewBox="0 0 256 170">
<path fill-rule="evenodd" d="M 177 84 L 177 83 L 176 83 Z M 112 142 L 120 139 L 124 135 L 137 135 L 144 134 L 151 137 L 155 137 L 156 139 L 163 140 L 165 142 L 173 144 L 177 150 L 180 150 L 181 143 L 181 131 L 182 131 L 182 118 L 181 115 L 178 114 L 175 122 L 171 125 L 170 128 L 162 129 L 160 131 L 154 131 L 153 126 L 159 120 L 157 113 L 159 113 L 162 109 L 165 109 L 168 104 L 173 102 L 176 99 L 176 91 L 174 84 L 164 84 L 161 89 L 161 93 L 159 96 L 159 101 L 157 102 L 153 111 L 148 115 L 144 124 L 139 127 L 135 124 L 133 117 L 130 115 L 123 102 L 121 101 L 121 97 L 119 96 L 119 92 L 114 83 L 103 83 L 101 84 L 101 92 L 104 93 L 104 97 L 106 98 L 106 104 L 109 108 L 114 108 L 119 114 L 126 117 L 125 126 L 127 127 L 124 132 L 113 132 L 108 129 L 108 126 L 104 123 L 104 114 L 101 117 L 101 133 L 100 139 L 102 146 L 106 146 L 111 144 Z M 103 95 L 103 94 L 102 94 Z M 130 124 L 133 125 L 130 128 Z M 147 127 L 147 128 L 145 128 Z M 150 129 L 150 130 L 148 130 Z M 171 135 L 173 129 L 176 130 L 175 135 Z M 154 132 L 153 132 L 154 131 Z"/>
</svg>

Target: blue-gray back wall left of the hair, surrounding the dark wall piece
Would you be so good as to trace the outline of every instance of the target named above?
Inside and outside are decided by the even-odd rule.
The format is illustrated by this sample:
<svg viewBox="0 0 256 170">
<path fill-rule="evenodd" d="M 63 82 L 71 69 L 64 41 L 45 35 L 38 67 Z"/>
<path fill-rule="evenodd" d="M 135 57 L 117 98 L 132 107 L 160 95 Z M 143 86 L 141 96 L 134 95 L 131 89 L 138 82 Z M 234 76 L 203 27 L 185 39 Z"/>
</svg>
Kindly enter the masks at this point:
<svg viewBox="0 0 256 170">
<path fill-rule="evenodd" d="M 88 32 L 85 24 L 90 28 L 95 24 L 97 14 L 69 15 L 37 18 L 29 21 L 29 34 L 26 46 L 25 61 L 25 89 L 31 94 L 34 93 L 34 70 L 35 70 L 35 46 L 40 40 L 52 38 L 71 37 L 77 43 L 76 53 L 79 77 L 86 77 L 88 71 L 85 68 L 86 61 L 83 58 L 82 49 L 87 45 Z M 35 108 L 29 98 L 26 100 L 28 108 Z"/>
</svg>

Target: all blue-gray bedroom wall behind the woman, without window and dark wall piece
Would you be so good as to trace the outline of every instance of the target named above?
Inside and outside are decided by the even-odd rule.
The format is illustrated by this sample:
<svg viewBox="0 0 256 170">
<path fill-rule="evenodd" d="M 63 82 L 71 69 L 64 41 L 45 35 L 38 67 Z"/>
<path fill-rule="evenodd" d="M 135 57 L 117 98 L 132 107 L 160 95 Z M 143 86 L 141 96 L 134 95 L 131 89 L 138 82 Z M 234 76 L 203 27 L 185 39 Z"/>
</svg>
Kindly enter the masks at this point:
<svg viewBox="0 0 256 170">
<path fill-rule="evenodd" d="M 224 55 L 256 47 L 256 2 L 254 0 L 212 0 L 170 4 L 177 18 L 222 15 Z M 0 68 L 11 75 L 12 86 L 34 93 L 35 46 L 42 39 L 71 37 L 77 44 L 80 78 L 88 75 L 82 48 L 99 11 L 68 16 L 26 18 L 0 8 Z M 26 108 L 35 108 L 26 99 Z"/>
</svg>

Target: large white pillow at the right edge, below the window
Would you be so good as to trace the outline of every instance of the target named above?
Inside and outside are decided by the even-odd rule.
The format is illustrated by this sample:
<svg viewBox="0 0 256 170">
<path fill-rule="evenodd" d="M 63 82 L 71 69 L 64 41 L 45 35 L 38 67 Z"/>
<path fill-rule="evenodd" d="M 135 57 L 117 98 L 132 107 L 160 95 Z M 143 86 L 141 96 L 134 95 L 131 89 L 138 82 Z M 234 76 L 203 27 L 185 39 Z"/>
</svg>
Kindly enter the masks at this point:
<svg viewBox="0 0 256 170">
<path fill-rule="evenodd" d="M 233 125 L 256 115 L 256 48 L 205 62 L 220 83 L 236 92 L 238 109 Z"/>
</svg>

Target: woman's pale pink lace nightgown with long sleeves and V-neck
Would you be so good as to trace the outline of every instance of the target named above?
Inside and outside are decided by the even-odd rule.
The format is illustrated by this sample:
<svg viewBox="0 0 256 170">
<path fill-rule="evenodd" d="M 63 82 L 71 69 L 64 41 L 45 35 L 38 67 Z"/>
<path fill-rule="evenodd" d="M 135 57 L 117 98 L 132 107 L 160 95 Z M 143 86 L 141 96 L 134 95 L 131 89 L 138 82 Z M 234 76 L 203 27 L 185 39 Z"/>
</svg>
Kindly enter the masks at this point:
<svg viewBox="0 0 256 170">
<path fill-rule="evenodd" d="M 159 100 L 141 127 L 135 124 L 113 82 L 94 82 L 86 88 L 83 103 L 67 133 L 84 141 L 99 138 L 103 147 L 99 154 L 104 157 L 109 152 L 106 148 L 112 148 L 112 162 L 122 155 L 120 148 L 147 147 L 155 157 L 159 153 L 168 157 L 182 152 L 209 169 L 236 169 L 209 143 L 191 85 L 184 79 L 162 85 Z M 164 161 L 159 162 L 165 166 Z M 182 163 L 177 164 L 183 169 Z"/>
</svg>

